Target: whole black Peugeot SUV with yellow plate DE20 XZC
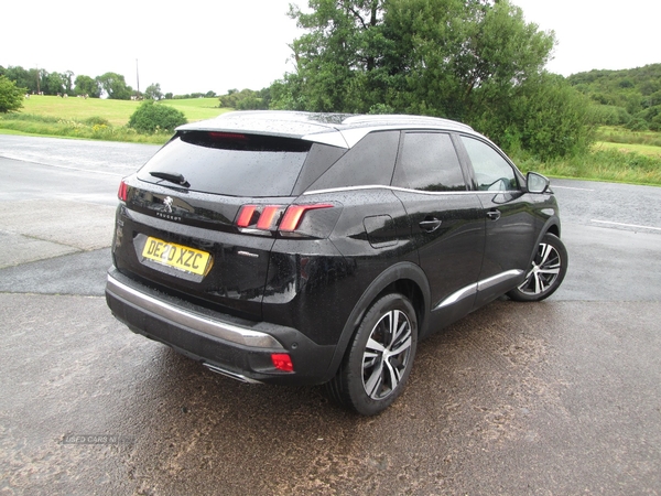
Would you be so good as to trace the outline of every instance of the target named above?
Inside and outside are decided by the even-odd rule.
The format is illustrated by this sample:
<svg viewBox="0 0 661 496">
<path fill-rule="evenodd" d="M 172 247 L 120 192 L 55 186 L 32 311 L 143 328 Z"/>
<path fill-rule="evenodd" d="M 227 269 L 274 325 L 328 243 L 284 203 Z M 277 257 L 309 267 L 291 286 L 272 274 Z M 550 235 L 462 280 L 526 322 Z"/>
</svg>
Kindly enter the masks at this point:
<svg viewBox="0 0 661 496">
<path fill-rule="evenodd" d="M 119 198 L 117 319 L 362 414 L 402 392 L 418 339 L 567 267 L 549 181 L 444 119 L 231 112 L 178 128 Z"/>
</svg>

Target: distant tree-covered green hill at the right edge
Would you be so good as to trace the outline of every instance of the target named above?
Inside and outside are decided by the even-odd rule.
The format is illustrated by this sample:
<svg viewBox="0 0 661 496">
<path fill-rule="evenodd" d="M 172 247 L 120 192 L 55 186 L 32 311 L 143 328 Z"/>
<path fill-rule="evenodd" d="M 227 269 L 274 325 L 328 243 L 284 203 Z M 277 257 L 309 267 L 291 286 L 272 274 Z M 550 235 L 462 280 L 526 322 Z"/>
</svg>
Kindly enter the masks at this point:
<svg viewBox="0 0 661 496">
<path fill-rule="evenodd" d="M 661 64 L 621 71 L 589 71 L 567 77 L 592 98 L 600 123 L 661 131 Z"/>
</svg>

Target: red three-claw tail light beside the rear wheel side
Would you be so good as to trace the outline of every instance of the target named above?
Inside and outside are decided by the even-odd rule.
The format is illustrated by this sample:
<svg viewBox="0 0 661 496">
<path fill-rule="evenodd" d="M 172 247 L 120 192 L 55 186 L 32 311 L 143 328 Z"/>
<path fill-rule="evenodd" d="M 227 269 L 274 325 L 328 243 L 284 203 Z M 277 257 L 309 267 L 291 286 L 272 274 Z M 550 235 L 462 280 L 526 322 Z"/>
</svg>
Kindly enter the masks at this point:
<svg viewBox="0 0 661 496">
<path fill-rule="evenodd" d="M 306 205 L 243 205 L 237 216 L 237 227 L 251 233 L 293 234 L 301 226 L 303 217 L 310 211 L 333 208 L 329 203 Z"/>
</svg>

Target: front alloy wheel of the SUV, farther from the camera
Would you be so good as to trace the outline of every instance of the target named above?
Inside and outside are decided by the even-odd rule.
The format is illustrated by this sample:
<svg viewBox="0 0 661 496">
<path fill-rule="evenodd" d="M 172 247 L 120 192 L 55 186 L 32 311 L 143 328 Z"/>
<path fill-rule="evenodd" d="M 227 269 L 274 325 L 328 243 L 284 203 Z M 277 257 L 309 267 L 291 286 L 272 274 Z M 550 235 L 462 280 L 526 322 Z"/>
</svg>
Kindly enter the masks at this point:
<svg viewBox="0 0 661 496">
<path fill-rule="evenodd" d="M 555 292 L 567 272 L 567 250 L 557 236 L 546 234 L 538 246 L 525 280 L 508 294 L 516 301 L 541 301 Z"/>
</svg>

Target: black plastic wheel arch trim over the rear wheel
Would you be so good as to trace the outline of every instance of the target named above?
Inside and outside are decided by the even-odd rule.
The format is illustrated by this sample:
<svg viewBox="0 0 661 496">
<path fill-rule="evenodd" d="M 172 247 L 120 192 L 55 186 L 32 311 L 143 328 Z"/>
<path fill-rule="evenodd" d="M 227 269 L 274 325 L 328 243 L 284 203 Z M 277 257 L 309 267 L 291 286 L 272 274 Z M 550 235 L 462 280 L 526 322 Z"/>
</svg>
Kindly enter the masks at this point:
<svg viewBox="0 0 661 496">
<path fill-rule="evenodd" d="M 388 293 L 401 293 L 407 296 L 418 316 L 418 335 L 426 334 L 430 320 L 431 292 L 430 283 L 420 266 L 412 262 L 400 262 L 381 272 L 358 299 L 349 317 L 345 322 L 335 354 L 326 371 L 325 380 L 330 380 L 346 354 L 347 346 L 367 310 L 375 301 Z"/>
</svg>

